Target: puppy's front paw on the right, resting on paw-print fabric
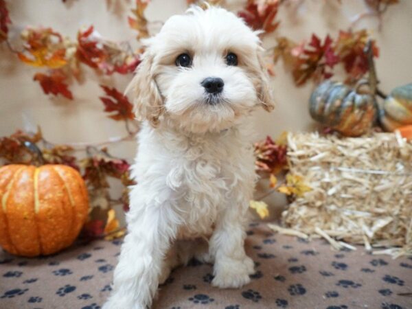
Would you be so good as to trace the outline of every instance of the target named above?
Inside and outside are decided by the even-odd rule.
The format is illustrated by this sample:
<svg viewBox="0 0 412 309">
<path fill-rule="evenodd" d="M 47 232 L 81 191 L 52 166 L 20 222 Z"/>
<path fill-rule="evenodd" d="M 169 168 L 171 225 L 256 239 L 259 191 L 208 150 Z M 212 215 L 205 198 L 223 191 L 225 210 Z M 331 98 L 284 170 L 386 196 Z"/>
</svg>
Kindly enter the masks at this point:
<svg viewBox="0 0 412 309">
<path fill-rule="evenodd" d="M 225 260 L 218 265 L 215 264 L 215 277 L 212 286 L 218 288 L 241 288 L 251 281 L 249 275 L 254 273 L 253 260 Z"/>
</svg>

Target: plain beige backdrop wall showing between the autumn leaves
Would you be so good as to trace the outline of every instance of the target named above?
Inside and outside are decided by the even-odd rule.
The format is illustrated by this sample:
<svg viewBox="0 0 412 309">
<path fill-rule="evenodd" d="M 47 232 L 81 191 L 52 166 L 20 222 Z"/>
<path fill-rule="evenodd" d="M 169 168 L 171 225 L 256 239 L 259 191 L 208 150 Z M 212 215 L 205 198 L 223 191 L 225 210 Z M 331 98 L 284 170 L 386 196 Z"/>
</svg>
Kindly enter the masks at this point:
<svg viewBox="0 0 412 309">
<path fill-rule="evenodd" d="M 294 0 L 296 1 L 296 0 Z M 298 0 L 299 1 L 299 0 Z M 135 32 L 128 29 L 126 15 L 134 1 L 128 0 L 6 0 L 13 21 L 11 35 L 18 35 L 24 25 L 43 25 L 76 38 L 82 26 L 94 25 L 95 29 L 113 41 L 133 41 Z M 244 1 L 227 1 L 231 8 Z M 412 1 L 401 0 L 383 16 L 382 31 L 378 31 L 376 19 L 363 19 L 356 28 L 368 27 L 380 47 L 377 61 L 381 88 L 389 91 L 393 87 L 412 82 Z M 151 21 L 164 21 L 168 16 L 184 12 L 185 0 L 152 0 L 147 16 Z M 293 16 L 282 7 L 282 21 L 277 34 L 286 35 L 295 41 L 310 38 L 312 32 L 321 38 L 326 34 L 336 37 L 339 29 L 346 30 L 351 20 L 366 8 L 361 0 L 305 0 Z M 156 31 L 156 25 L 153 31 Z M 273 46 L 266 39 L 265 47 Z M 32 81 L 38 71 L 16 60 L 5 46 L 0 47 L 0 136 L 9 135 L 17 128 L 34 129 L 39 124 L 50 141 L 65 143 L 73 141 L 102 141 L 124 134 L 122 124 L 108 119 L 102 112 L 102 95 L 99 83 L 113 84 L 124 89 L 130 76 L 114 74 L 97 78 L 87 74 L 84 84 L 73 84 L 76 98 L 70 102 L 61 98 L 47 97 L 38 83 Z M 290 74 L 282 63 L 275 67 L 273 93 L 277 100 L 274 113 L 260 112 L 255 117 L 260 138 L 277 136 L 284 130 L 308 130 L 312 121 L 308 115 L 308 95 L 313 85 L 296 88 Z M 115 155 L 131 159 L 135 153 L 132 142 L 111 147 Z M 272 197 L 273 198 L 273 197 Z M 276 199 L 276 198 L 275 198 Z M 280 199 L 273 204 L 284 203 Z"/>
</svg>

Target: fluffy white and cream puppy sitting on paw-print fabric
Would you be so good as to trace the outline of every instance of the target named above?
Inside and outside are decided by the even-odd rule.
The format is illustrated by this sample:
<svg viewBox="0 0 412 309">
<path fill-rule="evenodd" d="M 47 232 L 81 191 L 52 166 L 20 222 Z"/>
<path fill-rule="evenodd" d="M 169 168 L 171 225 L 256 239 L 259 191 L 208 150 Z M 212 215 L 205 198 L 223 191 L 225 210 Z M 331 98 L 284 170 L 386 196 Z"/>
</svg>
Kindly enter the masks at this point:
<svg viewBox="0 0 412 309">
<path fill-rule="evenodd" d="M 260 39 L 222 8 L 192 7 L 148 39 L 129 88 L 144 120 L 128 234 L 104 309 L 146 309 L 170 270 L 214 262 L 213 286 L 253 273 L 244 224 L 255 184 L 251 112 L 273 109 Z"/>
</svg>

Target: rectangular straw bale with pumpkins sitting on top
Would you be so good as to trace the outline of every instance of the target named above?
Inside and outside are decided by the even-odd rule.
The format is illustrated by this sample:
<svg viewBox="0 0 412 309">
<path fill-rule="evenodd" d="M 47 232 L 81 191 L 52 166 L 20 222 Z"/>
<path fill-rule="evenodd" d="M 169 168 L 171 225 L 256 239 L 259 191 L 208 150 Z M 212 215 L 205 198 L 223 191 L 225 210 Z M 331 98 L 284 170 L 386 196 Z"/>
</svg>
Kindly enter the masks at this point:
<svg viewBox="0 0 412 309">
<path fill-rule="evenodd" d="M 286 227 L 374 253 L 412 255 L 411 142 L 395 133 L 289 133 L 288 163 L 312 191 L 284 211 Z"/>
</svg>

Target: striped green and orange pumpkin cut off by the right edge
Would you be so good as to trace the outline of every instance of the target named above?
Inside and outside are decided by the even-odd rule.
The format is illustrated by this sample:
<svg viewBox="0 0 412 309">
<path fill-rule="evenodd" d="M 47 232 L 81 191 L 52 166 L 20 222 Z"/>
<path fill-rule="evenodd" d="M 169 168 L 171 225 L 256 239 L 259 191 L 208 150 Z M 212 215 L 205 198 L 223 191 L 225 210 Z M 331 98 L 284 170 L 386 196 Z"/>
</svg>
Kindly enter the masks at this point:
<svg viewBox="0 0 412 309">
<path fill-rule="evenodd" d="M 388 131 L 412 124 L 412 84 L 396 87 L 389 93 L 379 111 L 379 120 Z"/>
</svg>

